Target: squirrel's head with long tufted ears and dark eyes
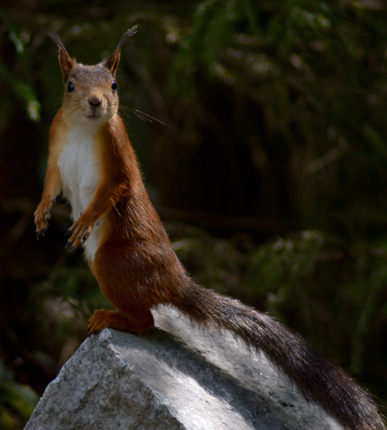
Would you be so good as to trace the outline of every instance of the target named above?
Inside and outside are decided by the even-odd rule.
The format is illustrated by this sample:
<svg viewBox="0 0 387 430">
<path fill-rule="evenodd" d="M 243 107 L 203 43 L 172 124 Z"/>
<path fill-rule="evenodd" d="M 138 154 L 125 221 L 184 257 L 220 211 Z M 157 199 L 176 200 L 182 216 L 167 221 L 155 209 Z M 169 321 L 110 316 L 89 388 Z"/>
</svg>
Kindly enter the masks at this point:
<svg viewBox="0 0 387 430">
<path fill-rule="evenodd" d="M 103 124 L 117 113 L 115 76 L 121 47 L 136 31 L 137 26 L 134 26 L 125 32 L 110 57 L 95 66 L 78 63 L 70 57 L 59 36 L 51 30 L 47 32 L 59 51 L 59 65 L 65 84 L 62 108 L 69 108 L 67 121 Z"/>
</svg>

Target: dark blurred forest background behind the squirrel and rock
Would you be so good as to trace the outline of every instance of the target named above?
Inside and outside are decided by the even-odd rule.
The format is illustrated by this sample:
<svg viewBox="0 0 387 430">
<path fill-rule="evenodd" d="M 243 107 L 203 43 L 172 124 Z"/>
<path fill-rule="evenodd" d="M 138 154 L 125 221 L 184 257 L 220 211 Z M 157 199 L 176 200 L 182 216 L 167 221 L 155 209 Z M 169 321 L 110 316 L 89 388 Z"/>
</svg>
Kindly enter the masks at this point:
<svg viewBox="0 0 387 430">
<path fill-rule="evenodd" d="M 63 93 L 45 28 L 95 64 L 139 24 L 121 115 L 178 256 L 387 404 L 386 22 L 381 0 L 2 1 L 1 428 L 23 428 L 109 306 L 64 248 L 64 200 L 35 237 Z"/>
</svg>

